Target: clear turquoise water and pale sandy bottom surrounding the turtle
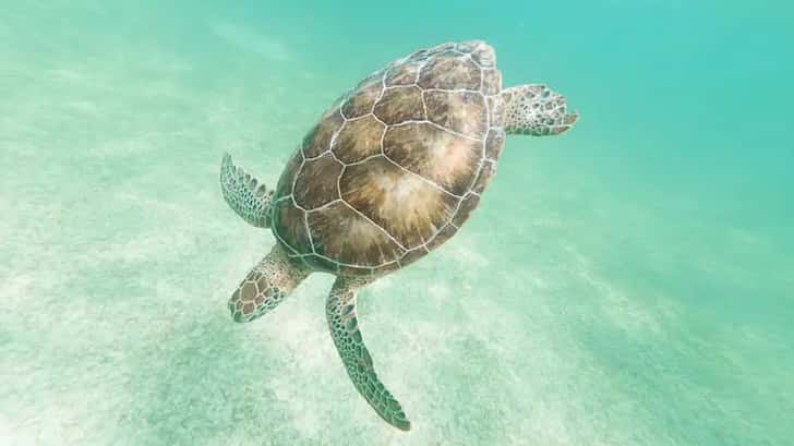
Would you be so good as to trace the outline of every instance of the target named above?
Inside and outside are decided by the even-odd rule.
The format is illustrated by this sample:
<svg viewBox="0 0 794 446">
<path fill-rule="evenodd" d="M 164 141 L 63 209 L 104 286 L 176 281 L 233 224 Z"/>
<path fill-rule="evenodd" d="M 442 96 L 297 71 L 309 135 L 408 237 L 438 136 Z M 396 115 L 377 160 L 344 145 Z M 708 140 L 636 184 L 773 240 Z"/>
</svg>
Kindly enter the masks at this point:
<svg viewBox="0 0 794 446">
<path fill-rule="evenodd" d="M 7 3 L 0 445 L 794 438 L 787 3 Z M 333 277 L 231 322 L 274 238 L 218 168 L 274 184 L 340 93 L 471 38 L 582 118 L 509 137 L 467 226 L 363 292 L 402 433 L 337 358 Z"/>
</svg>

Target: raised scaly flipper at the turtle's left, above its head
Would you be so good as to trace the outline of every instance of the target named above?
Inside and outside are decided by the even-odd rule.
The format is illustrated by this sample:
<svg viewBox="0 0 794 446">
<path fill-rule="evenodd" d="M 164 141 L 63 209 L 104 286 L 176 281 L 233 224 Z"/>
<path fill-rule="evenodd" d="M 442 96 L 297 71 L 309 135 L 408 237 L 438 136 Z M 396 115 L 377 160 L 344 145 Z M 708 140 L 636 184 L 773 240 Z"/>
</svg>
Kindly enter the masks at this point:
<svg viewBox="0 0 794 446">
<path fill-rule="evenodd" d="M 258 186 L 257 186 L 258 184 Z M 257 228 L 269 228 L 273 190 L 234 166 L 231 155 L 225 154 L 220 165 L 220 189 L 229 207 L 243 220 Z"/>
</svg>

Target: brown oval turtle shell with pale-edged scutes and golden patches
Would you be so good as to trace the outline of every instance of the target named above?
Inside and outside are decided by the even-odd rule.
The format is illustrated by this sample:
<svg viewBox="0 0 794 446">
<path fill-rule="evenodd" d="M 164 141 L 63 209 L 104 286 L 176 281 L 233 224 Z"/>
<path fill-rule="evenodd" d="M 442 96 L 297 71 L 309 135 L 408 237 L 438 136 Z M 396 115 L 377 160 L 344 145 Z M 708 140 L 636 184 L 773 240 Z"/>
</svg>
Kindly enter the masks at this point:
<svg viewBox="0 0 794 446">
<path fill-rule="evenodd" d="M 414 51 L 332 106 L 290 158 L 273 231 L 311 267 L 376 275 L 469 218 L 504 145 L 502 75 L 483 41 Z"/>
</svg>

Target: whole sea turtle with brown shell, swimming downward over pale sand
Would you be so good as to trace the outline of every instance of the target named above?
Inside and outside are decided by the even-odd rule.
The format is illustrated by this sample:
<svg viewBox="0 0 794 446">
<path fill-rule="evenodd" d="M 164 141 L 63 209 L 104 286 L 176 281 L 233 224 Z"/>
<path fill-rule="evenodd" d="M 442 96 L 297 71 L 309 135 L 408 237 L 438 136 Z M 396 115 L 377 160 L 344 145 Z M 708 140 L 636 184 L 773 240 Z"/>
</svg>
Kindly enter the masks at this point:
<svg viewBox="0 0 794 446">
<path fill-rule="evenodd" d="M 395 60 L 342 95 L 275 190 L 226 154 L 225 200 L 276 238 L 232 293 L 233 320 L 269 312 L 311 273 L 336 275 L 325 311 L 347 373 L 385 421 L 409 430 L 364 346 L 357 293 L 457 232 L 495 172 L 505 134 L 557 135 L 577 118 L 543 84 L 503 89 L 485 41 L 448 43 Z"/>
</svg>

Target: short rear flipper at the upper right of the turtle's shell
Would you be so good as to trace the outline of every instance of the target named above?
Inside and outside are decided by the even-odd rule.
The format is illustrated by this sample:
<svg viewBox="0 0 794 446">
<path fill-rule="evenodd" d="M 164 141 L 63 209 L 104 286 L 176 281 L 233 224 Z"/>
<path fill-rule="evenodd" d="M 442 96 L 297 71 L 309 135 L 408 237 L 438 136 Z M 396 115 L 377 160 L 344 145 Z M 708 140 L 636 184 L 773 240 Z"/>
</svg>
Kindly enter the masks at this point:
<svg viewBox="0 0 794 446">
<path fill-rule="evenodd" d="M 543 84 L 519 85 L 502 91 L 504 125 L 508 134 L 558 135 L 574 126 L 579 113 L 568 113 L 564 96 Z"/>
</svg>

